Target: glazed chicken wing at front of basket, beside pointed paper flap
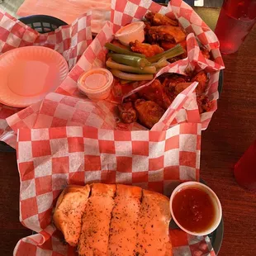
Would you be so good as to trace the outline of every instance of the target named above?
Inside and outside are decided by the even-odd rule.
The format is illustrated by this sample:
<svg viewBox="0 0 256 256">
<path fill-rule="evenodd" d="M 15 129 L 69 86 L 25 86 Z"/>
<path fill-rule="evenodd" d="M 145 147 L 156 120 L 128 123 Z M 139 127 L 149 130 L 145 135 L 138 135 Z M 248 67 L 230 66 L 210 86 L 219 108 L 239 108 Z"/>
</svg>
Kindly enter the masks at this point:
<svg viewBox="0 0 256 256">
<path fill-rule="evenodd" d="M 164 115 L 164 109 L 152 101 L 136 100 L 135 109 L 138 111 L 140 123 L 149 129 Z"/>
</svg>

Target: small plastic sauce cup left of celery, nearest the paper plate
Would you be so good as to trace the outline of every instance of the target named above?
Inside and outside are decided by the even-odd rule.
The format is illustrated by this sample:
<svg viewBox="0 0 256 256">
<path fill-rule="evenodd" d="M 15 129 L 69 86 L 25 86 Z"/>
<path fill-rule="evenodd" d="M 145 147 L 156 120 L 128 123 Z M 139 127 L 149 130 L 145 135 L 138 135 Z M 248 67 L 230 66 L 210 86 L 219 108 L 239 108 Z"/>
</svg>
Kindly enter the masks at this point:
<svg viewBox="0 0 256 256">
<path fill-rule="evenodd" d="M 107 69 L 91 69 L 78 78 L 78 88 L 94 101 L 106 99 L 113 83 L 113 75 Z"/>
</svg>

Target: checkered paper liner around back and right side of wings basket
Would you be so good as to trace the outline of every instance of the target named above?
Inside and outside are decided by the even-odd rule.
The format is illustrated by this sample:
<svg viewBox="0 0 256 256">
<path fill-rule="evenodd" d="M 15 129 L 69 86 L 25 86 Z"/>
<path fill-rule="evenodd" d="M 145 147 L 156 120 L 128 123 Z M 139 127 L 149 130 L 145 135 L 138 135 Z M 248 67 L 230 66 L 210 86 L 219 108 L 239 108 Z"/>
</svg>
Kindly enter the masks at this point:
<svg viewBox="0 0 256 256">
<path fill-rule="evenodd" d="M 168 7 L 163 7 L 155 2 L 145 0 L 116 0 L 112 1 L 111 7 L 111 22 L 107 22 L 102 31 L 92 41 L 92 44 L 89 45 L 83 57 L 69 73 L 68 78 L 66 78 L 57 89 L 57 92 L 73 97 L 83 97 L 78 91 L 78 77 L 84 71 L 105 66 L 107 50 L 105 49 L 104 45 L 113 39 L 115 31 L 131 21 L 141 20 L 148 11 L 162 12 L 167 15 L 174 15 L 177 17 L 181 26 L 183 26 L 187 32 L 190 32 L 190 34 L 187 36 L 188 56 L 186 59 L 181 59 L 173 64 L 169 64 L 164 69 L 161 69 L 159 73 L 156 74 L 156 77 L 162 73 L 186 74 L 186 71 L 199 71 L 201 69 L 205 69 L 206 72 L 210 73 L 206 95 L 210 98 L 213 104 L 210 111 L 202 113 L 200 116 L 202 129 L 206 129 L 211 121 L 211 116 L 217 108 L 216 100 L 219 97 L 219 70 L 224 69 L 224 64 L 219 50 L 219 41 L 217 40 L 215 34 L 203 21 L 201 21 L 201 18 L 197 16 L 196 12 L 194 12 L 191 7 L 182 1 L 174 0 L 169 3 Z M 188 16 L 187 13 L 189 13 L 190 16 Z M 204 58 L 204 56 L 201 54 L 197 40 L 200 40 L 201 45 L 205 45 L 208 50 L 211 50 L 214 61 Z M 127 97 L 130 94 L 139 91 L 141 88 L 148 86 L 150 83 L 152 83 L 152 81 L 122 96 Z M 187 112 L 187 117 L 184 121 L 195 120 L 196 118 L 197 104 L 194 105 L 193 111 L 190 109 L 190 111 Z M 174 125 L 176 123 L 178 123 L 178 121 L 173 119 L 173 123 L 170 123 L 170 125 Z"/>
</svg>

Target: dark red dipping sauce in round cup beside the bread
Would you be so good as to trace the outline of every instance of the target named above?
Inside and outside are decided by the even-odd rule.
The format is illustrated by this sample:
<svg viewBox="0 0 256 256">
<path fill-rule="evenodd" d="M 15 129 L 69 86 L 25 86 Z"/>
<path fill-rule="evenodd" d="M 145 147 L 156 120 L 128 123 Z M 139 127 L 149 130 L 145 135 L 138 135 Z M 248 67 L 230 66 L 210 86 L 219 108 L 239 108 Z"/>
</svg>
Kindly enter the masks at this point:
<svg viewBox="0 0 256 256">
<path fill-rule="evenodd" d="M 173 197 L 173 215 L 184 229 L 203 232 L 216 219 L 216 208 L 207 192 L 197 187 L 184 187 Z"/>
</svg>

